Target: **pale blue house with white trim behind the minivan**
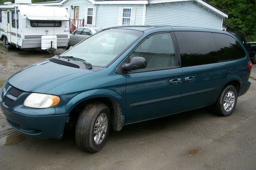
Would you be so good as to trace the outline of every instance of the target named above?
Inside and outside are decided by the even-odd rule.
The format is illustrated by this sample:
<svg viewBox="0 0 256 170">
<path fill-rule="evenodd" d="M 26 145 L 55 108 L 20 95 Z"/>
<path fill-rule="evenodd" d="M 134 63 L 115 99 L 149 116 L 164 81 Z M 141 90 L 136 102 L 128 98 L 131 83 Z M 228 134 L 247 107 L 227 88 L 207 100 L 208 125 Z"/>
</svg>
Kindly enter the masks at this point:
<svg viewBox="0 0 256 170">
<path fill-rule="evenodd" d="M 77 27 L 84 19 L 82 25 L 97 28 L 171 25 L 222 30 L 223 19 L 228 17 L 204 0 L 62 0 L 40 5 L 66 8 Z"/>
</svg>

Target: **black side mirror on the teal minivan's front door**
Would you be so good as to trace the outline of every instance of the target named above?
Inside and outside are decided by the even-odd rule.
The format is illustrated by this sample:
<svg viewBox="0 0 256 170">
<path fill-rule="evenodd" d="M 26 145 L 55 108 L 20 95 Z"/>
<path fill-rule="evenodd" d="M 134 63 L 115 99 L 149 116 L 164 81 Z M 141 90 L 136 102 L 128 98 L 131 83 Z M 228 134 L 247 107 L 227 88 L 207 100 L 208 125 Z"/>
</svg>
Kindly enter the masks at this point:
<svg viewBox="0 0 256 170">
<path fill-rule="evenodd" d="M 130 63 L 122 65 L 124 71 L 130 71 L 134 69 L 141 69 L 146 67 L 146 59 L 143 57 L 133 57 Z"/>
</svg>

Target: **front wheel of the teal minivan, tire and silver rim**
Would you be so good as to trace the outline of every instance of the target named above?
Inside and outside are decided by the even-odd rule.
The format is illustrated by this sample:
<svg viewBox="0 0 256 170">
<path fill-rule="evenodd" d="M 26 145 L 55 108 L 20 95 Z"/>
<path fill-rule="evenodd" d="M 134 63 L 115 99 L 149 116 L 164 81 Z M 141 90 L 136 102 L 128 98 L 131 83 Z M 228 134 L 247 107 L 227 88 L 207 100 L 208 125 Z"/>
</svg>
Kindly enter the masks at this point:
<svg viewBox="0 0 256 170">
<path fill-rule="evenodd" d="M 106 125 L 104 126 L 105 118 Z M 101 120 L 103 121 L 101 122 Z M 100 151 L 109 135 L 110 120 L 108 106 L 99 102 L 87 104 L 81 110 L 76 124 L 77 147 L 90 153 Z M 99 126 L 96 126 L 96 123 Z M 98 138 L 99 136 L 102 138 Z"/>
</svg>

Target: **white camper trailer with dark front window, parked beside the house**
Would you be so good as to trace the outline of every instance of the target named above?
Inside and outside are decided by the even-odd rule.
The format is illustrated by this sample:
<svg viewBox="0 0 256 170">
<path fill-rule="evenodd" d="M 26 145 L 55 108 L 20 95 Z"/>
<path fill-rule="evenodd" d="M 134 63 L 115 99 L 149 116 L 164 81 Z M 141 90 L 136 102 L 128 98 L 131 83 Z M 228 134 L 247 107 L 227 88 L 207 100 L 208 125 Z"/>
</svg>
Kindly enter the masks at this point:
<svg viewBox="0 0 256 170">
<path fill-rule="evenodd" d="M 31 50 L 66 47 L 69 42 L 69 15 L 65 8 L 16 0 L 0 5 L 0 39 L 6 48 Z"/>
</svg>

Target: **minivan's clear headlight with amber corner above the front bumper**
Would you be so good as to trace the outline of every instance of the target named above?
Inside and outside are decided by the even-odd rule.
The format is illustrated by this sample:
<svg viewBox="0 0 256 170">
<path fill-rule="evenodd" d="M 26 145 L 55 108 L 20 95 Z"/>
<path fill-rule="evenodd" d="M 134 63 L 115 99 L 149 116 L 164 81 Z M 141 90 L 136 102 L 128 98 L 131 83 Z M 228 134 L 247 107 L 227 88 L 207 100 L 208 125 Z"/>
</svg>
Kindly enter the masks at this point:
<svg viewBox="0 0 256 170">
<path fill-rule="evenodd" d="M 56 95 L 31 93 L 24 101 L 24 106 L 32 108 L 49 108 L 56 106 L 60 98 Z"/>
</svg>

